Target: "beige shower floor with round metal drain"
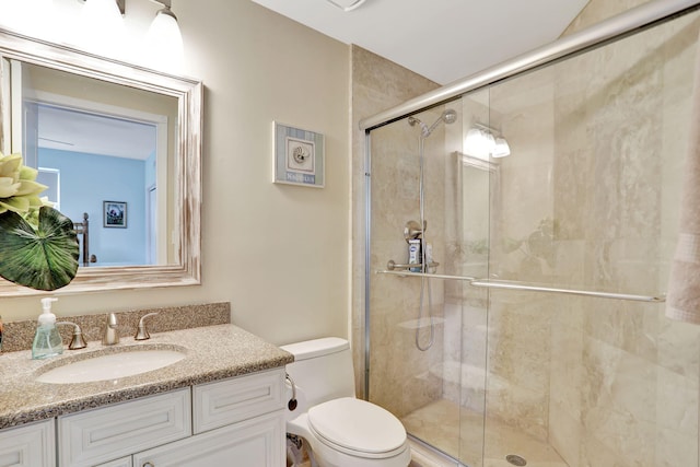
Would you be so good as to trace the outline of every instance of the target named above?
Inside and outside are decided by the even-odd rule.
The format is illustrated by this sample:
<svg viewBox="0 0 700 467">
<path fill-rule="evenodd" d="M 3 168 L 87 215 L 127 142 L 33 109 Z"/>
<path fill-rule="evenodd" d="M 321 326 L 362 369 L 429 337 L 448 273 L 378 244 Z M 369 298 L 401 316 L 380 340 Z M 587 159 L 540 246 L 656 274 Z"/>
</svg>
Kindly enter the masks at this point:
<svg viewBox="0 0 700 467">
<path fill-rule="evenodd" d="M 401 422 L 406 431 L 417 439 L 455 458 L 462 458 L 469 467 L 482 467 L 480 459 L 485 433 L 480 413 L 465 413 L 464 408 L 442 399 L 409 413 Z M 486 440 L 483 467 L 513 467 L 505 460 L 510 454 L 525 458 L 527 467 L 569 467 L 549 444 L 504 423 L 488 420 Z M 434 465 L 444 464 L 435 462 Z"/>
</svg>

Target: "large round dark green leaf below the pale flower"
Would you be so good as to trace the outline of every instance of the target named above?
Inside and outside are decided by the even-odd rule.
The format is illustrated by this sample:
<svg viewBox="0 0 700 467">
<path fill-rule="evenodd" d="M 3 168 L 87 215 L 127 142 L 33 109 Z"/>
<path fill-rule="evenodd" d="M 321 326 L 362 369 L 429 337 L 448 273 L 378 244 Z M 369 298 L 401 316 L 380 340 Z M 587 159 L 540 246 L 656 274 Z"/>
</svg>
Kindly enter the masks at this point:
<svg viewBox="0 0 700 467">
<path fill-rule="evenodd" d="M 15 212 L 0 214 L 0 276 L 36 290 L 68 285 L 78 272 L 73 222 L 54 208 L 39 210 L 35 230 Z"/>
</svg>

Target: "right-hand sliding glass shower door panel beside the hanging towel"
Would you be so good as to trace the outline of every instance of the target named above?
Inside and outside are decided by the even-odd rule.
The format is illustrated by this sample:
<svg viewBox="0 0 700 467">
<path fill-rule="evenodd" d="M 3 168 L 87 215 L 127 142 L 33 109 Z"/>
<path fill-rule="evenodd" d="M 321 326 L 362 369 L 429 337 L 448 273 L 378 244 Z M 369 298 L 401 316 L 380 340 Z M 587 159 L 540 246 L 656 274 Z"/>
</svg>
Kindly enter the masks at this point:
<svg viewBox="0 0 700 467">
<path fill-rule="evenodd" d="M 696 12 L 491 86 L 512 151 L 491 278 L 663 293 L 699 26 Z M 698 326 L 663 304 L 497 290 L 489 302 L 487 464 L 698 466 Z"/>
</svg>

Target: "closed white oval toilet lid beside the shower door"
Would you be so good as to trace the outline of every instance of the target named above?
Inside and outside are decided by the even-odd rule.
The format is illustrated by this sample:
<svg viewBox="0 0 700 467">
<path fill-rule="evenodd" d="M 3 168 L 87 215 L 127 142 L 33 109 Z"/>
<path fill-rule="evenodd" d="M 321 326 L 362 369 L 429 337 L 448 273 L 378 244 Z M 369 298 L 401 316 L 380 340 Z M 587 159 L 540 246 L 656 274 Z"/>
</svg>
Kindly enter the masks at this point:
<svg viewBox="0 0 700 467">
<path fill-rule="evenodd" d="M 342 397 L 308 409 L 311 428 L 347 450 L 386 453 L 406 442 L 406 430 L 389 411 L 353 397 Z"/>
</svg>

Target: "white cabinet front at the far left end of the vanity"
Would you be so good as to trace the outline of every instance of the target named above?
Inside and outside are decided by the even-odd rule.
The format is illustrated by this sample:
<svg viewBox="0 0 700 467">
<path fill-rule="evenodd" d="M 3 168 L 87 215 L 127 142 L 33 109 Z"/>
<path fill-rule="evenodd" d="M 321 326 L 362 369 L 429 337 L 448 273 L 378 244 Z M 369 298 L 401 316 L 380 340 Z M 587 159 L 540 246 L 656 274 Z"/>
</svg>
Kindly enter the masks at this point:
<svg viewBox="0 0 700 467">
<path fill-rule="evenodd" d="M 0 431 L 0 467 L 56 467 L 54 419 Z"/>
</svg>

